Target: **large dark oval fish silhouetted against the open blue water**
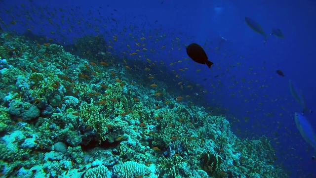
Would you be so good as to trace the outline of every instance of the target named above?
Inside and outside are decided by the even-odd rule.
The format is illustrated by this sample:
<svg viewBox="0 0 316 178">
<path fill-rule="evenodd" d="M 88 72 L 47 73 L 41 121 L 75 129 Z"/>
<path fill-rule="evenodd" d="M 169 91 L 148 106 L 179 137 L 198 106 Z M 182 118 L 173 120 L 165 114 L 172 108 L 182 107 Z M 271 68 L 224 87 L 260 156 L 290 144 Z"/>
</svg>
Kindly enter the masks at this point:
<svg viewBox="0 0 316 178">
<path fill-rule="evenodd" d="M 214 64 L 208 60 L 204 49 L 196 43 L 190 44 L 186 47 L 188 56 L 199 64 L 206 64 L 209 68 Z"/>
</svg>

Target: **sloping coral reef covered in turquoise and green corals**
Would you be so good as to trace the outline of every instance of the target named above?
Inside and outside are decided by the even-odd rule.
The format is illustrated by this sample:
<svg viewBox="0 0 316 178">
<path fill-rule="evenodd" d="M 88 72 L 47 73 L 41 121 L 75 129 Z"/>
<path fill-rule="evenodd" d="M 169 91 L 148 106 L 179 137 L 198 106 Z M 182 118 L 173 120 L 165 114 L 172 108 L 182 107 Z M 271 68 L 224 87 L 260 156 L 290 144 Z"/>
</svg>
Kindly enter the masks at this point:
<svg viewBox="0 0 316 178">
<path fill-rule="evenodd" d="M 5 177 L 286 177 L 266 137 L 238 138 L 224 116 L 168 92 L 138 70 L 147 64 L 132 70 L 100 37 L 76 43 L 77 53 L 96 43 L 88 59 L 19 36 L 0 42 Z"/>
</svg>

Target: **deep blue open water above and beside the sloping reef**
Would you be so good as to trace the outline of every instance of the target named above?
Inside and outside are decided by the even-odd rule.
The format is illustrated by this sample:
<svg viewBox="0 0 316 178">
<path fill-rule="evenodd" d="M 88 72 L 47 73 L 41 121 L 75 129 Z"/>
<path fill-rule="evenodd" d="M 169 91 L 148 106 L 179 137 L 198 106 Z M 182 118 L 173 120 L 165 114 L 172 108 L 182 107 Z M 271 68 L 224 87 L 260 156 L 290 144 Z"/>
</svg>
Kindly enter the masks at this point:
<svg viewBox="0 0 316 178">
<path fill-rule="evenodd" d="M 245 16 L 255 19 L 267 34 L 272 28 L 281 29 L 285 38 L 269 36 L 264 45 L 264 37 L 246 25 Z M 311 159 L 315 150 L 295 126 L 294 113 L 301 108 L 288 87 L 288 81 L 294 81 L 307 106 L 316 110 L 315 0 L 0 0 L 0 18 L 7 24 L 1 25 L 4 30 L 22 34 L 30 29 L 60 44 L 90 34 L 102 34 L 108 41 L 119 34 L 109 51 L 120 57 L 129 50 L 127 44 L 135 48 L 132 36 L 145 37 L 146 48 L 157 51 L 148 58 L 164 61 L 181 80 L 201 85 L 207 105 L 226 111 L 235 134 L 266 135 L 276 149 L 276 164 L 292 178 L 316 177 L 316 162 Z M 69 21 L 62 24 L 62 19 Z M 12 20 L 19 22 L 13 25 Z M 180 39 L 178 46 L 175 38 Z M 211 69 L 185 60 L 185 45 L 193 42 L 203 46 L 214 62 Z M 186 67 L 185 72 L 178 70 Z M 277 69 L 285 77 L 278 76 Z M 170 84 L 174 85 L 180 89 Z M 315 130 L 316 113 L 307 114 L 307 119 Z"/>
</svg>

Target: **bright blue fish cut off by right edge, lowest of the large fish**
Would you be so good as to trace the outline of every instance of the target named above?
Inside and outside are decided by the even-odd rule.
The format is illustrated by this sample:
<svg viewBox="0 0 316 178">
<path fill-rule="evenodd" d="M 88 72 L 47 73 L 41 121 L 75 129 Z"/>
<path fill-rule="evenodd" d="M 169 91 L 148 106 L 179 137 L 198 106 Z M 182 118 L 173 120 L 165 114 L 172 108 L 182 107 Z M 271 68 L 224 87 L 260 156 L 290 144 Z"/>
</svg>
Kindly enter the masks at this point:
<svg viewBox="0 0 316 178">
<path fill-rule="evenodd" d="M 316 150 L 316 136 L 313 127 L 306 119 L 304 114 L 295 113 L 295 124 L 300 134 L 315 150 Z"/>
</svg>

